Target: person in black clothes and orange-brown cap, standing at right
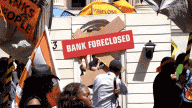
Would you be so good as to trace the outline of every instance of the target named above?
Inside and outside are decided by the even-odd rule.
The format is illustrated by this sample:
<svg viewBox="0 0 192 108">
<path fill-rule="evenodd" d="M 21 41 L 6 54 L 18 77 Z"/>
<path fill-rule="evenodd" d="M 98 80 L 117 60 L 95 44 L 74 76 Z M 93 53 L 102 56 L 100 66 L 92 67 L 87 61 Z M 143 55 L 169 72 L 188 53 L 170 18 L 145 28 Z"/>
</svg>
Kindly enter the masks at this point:
<svg viewBox="0 0 192 108">
<path fill-rule="evenodd" d="M 175 73 L 175 60 L 171 57 L 164 57 L 160 66 L 161 72 L 153 82 L 153 108 L 178 108 L 181 103 L 181 87 L 171 78 Z"/>
</svg>

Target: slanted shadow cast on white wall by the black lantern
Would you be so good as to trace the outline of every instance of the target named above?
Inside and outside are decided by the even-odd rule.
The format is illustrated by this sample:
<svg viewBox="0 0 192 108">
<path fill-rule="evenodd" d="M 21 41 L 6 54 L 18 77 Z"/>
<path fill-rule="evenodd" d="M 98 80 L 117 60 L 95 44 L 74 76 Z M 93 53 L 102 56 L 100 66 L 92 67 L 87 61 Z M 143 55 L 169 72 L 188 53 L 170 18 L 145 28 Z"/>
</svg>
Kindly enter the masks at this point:
<svg viewBox="0 0 192 108">
<path fill-rule="evenodd" d="M 146 58 L 146 49 L 142 49 L 133 81 L 144 81 L 151 59 Z"/>
</svg>

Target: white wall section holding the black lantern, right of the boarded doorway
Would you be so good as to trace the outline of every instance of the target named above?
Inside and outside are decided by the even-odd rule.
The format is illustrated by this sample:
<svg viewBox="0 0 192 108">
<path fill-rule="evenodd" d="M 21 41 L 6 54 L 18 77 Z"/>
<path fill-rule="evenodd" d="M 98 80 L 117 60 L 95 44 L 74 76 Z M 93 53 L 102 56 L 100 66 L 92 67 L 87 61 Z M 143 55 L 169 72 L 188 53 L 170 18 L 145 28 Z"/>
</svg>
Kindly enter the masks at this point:
<svg viewBox="0 0 192 108">
<path fill-rule="evenodd" d="M 134 49 L 126 52 L 128 108 L 153 108 L 153 81 L 156 68 L 165 56 L 171 56 L 170 20 L 156 14 L 126 14 L 126 29 L 133 30 Z M 156 44 L 151 60 L 145 57 L 145 44 Z"/>
</svg>

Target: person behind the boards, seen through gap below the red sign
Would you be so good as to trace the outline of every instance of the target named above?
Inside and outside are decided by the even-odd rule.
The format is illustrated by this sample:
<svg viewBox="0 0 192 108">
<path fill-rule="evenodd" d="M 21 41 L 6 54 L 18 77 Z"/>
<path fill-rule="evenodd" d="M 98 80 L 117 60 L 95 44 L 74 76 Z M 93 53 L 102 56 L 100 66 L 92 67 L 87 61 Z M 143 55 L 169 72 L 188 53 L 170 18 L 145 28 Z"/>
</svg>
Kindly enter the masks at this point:
<svg viewBox="0 0 192 108">
<path fill-rule="evenodd" d="M 93 61 L 89 63 L 90 70 L 96 71 L 104 68 L 105 64 L 100 59 L 96 58 L 95 55 L 92 55 L 92 58 Z"/>
</svg>

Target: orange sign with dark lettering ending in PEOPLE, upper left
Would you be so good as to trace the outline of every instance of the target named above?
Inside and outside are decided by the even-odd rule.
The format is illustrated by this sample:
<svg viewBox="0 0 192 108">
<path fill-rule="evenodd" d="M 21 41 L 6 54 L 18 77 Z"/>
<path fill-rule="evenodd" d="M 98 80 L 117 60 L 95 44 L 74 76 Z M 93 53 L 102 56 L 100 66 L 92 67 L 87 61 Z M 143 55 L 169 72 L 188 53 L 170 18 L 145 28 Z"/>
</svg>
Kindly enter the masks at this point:
<svg viewBox="0 0 192 108">
<path fill-rule="evenodd" d="M 40 8 L 30 0 L 0 0 L 0 4 L 5 19 L 32 41 Z"/>
</svg>

